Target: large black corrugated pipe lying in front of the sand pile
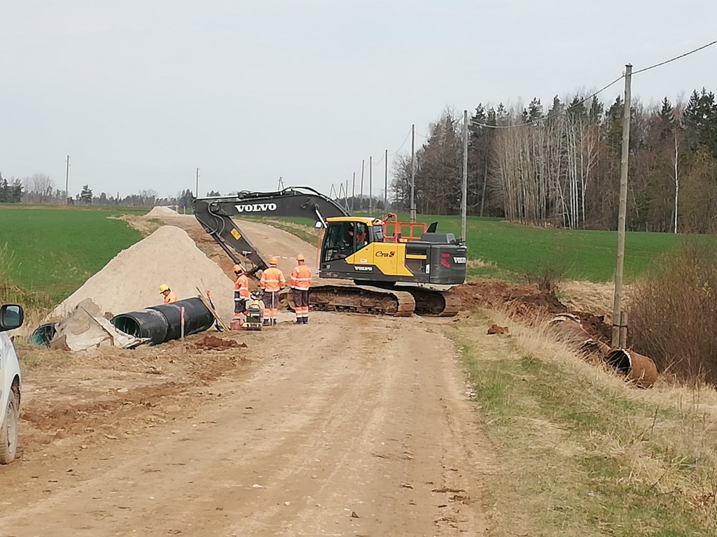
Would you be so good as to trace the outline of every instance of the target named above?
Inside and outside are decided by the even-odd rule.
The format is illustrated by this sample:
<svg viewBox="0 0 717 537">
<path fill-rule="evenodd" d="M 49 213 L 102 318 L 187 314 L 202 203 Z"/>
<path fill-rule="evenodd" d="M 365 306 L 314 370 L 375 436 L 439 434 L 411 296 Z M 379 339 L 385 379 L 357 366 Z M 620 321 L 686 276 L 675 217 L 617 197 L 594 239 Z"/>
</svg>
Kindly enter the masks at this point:
<svg viewBox="0 0 717 537">
<path fill-rule="evenodd" d="M 118 330 L 134 337 L 149 338 L 157 345 L 181 337 L 181 308 L 184 307 L 184 335 L 204 332 L 214 324 L 214 315 L 199 298 L 151 306 L 141 311 L 115 315 L 110 321 Z"/>
</svg>

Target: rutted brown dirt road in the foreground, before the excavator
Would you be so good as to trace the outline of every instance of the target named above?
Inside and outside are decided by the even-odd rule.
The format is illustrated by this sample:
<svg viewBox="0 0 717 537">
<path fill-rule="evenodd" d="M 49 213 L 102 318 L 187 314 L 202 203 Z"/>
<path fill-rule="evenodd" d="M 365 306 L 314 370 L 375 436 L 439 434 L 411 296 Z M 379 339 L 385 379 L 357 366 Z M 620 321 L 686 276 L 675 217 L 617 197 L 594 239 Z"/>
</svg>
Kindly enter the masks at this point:
<svg viewBox="0 0 717 537">
<path fill-rule="evenodd" d="M 488 444 L 447 322 L 313 314 L 221 334 L 246 349 L 199 334 L 32 369 L 0 536 L 485 534 Z"/>
</svg>

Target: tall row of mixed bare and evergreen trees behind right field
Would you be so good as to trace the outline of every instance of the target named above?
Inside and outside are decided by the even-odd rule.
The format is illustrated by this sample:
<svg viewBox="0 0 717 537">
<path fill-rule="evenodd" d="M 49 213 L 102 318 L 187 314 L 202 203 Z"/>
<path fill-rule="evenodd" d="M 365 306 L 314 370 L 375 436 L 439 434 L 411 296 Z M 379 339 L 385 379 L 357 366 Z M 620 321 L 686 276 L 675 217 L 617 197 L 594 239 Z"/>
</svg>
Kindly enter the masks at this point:
<svg viewBox="0 0 717 537">
<path fill-rule="evenodd" d="M 555 97 L 546 110 L 478 105 L 470 120 L 468 213 L 536 226 L 617 226 L 624 105 Z M 631 110 L 627 226 L 717 232 L 717 102 L 706 89 Z M 410 204 L 410 155 L 394 163 L 393 193 Z M 460 212 L 462 121 L 446 110 L 416 153 L 420 213 Z"/>
</svg>

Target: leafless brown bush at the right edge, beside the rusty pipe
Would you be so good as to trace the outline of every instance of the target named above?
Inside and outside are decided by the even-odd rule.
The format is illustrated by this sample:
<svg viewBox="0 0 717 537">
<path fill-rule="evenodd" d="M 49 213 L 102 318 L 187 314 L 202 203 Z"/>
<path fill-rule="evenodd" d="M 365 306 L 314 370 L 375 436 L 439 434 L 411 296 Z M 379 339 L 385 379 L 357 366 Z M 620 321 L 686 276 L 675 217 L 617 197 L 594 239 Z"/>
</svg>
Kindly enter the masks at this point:
<svg viewBox="0 0 717 537">
<path fill-rule="evenodd" d="M 686 239 L 632 289 L 635 350 L 678 380 L 717 385 L 717 247 Z"/>
</svg>

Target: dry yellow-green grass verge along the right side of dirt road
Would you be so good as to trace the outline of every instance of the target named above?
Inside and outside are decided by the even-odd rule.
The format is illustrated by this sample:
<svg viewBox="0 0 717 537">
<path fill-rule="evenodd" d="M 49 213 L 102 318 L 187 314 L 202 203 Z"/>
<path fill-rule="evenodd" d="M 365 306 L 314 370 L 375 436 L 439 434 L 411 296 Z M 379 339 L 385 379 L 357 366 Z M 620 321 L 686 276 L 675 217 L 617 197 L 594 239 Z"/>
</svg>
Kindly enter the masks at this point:
<svg viewBox="0 0 717 537">
<path fill-rule="evenodd" d="M 484 335 L 493 322 L 511 335 Z M 717 420 L 703 403 L 715 392 L 628 388 L 495 312 L 449 335 L 499 454 L 486 484 L 495 535 L 715 534 Z"/>
</svg>

